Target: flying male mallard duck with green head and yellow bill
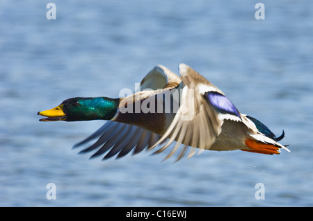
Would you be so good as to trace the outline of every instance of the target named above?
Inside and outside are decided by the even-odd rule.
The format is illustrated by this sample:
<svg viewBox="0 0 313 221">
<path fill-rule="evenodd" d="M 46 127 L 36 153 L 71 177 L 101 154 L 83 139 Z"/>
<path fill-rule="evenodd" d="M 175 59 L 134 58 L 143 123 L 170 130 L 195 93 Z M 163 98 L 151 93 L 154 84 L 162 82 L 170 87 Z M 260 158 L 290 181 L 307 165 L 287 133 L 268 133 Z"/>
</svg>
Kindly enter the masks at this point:
<svg viewBox="0 0 313 221">
<path fill-rule="evenodd" d="M 47 116 L 40 121 L 107 122 L 95 133 L 74 145 L 99 139 L 81 152 L 97 151 L 97 157 L 109 151 L 104 159 L 117 154 L 123 157 L 131 150 L 134 154 L 156 146 L 156 153 L 175 145 L 165 159 L 180 148 L 177 160 L 192 157 L 195 149 L 243 150 L 261 154 L 280 154 L 289 150 L 278 143 L 263 123 L 241 114 L 223 91 L 200 73 L 179 64 L 179 74 L 158 65 L 143 80 L 134 94 L 123 98 L 69 98 L 53 109 L 38 112 Z M 190 150 L 188 150 L 190 149 Z M 188 154 L 187 154 L 188 152 Z"/>
</svg>

